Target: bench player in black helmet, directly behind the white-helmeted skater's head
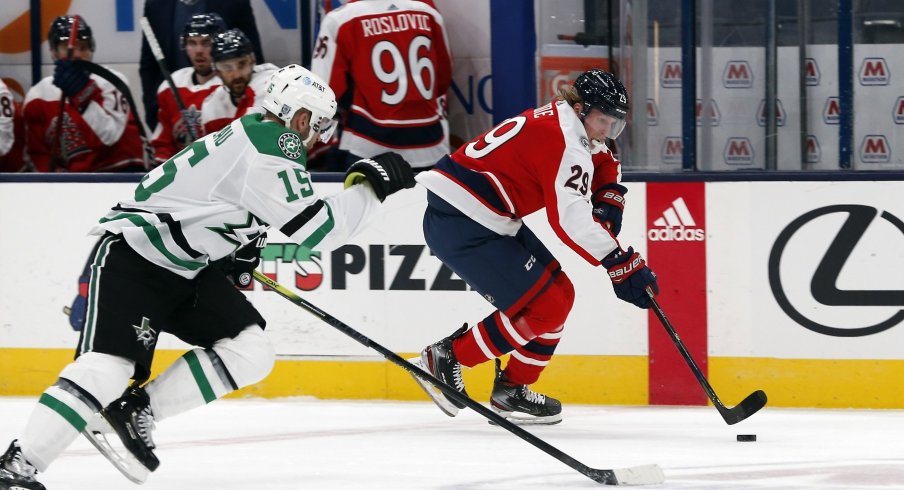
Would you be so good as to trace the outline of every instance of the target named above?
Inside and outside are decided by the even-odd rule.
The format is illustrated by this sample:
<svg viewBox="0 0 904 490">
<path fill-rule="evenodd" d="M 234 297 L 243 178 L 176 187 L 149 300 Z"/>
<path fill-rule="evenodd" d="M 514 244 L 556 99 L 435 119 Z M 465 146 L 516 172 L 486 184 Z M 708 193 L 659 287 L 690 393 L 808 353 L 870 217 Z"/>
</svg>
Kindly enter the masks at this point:
<svg viewBox="0 0 904 490">
<path fill-rule="evenodd" d="M 219 131 L 245 114 L 260 112 L 267 80 L 276 70 L 270 63 L 255 64 L 254 45 L 240 29 L 216 35 L 211 55 L 223 85 L 201 105 L 204 134 Z"/>
</svg>

